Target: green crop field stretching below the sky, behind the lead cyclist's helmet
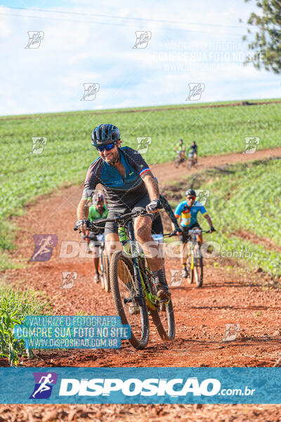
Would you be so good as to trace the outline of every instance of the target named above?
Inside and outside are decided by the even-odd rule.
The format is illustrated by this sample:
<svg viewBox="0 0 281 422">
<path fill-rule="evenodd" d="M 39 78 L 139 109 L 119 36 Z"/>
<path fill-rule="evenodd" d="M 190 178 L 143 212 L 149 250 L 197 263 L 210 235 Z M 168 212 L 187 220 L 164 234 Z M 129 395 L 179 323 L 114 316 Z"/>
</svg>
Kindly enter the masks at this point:
<svg viewBox="0 0 281 422">
<path fill-rule="evenodd" d="M 179 107 L 150 108 L 145 112 L 136 109 L 136 113 L 107 110 L 95 114 L 87 111 L 18 119 L 2 117 L 0 248 L 13 247 L 6 217 L 22 214 L 23 205 L 39 195 L 84 179 L 89 164 L 97 156 L 90 142 L 91 131 L 97 124 L 116 124 L 123 145 L 133 148 L 137 147 L 137 137 L 150 136 L 152 143 L 144 155 L 149 164 L 173 160 L 174 144 L 180 138 L 186 144 L 196 140 L 199 155 L 243 151 L 245 136 L 259 136 L 260 149 L 280 145 L 281 104 L 185 110 Z M 30 153 L 32 137 L 46 138 L 43 153 Z"/>
</svg>

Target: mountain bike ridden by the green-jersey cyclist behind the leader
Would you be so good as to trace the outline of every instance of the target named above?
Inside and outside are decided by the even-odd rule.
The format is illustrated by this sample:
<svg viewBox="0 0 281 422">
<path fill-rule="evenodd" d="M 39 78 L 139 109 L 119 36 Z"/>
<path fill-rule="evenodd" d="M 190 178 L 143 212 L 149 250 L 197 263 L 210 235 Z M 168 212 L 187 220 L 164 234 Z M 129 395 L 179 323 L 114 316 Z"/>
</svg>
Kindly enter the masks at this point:
<svg viewBox="0 0 281 422">
<path fill-rule="evenodd" d="M 96 220 L 98 222 L 99 220 Z M 90 243 L 94 242 L 98 246 L 98 256 L 100 257 L 99 263 L 99 273 L 100 273 L 100 284 L 101 288 L 104 288 L 106 292 L 110 291 L 110 279 L 109 279 L 109 259 L 105 256 L 105 235 L 103 234 L 103 230 L 97 229 L 93 225 L 90 224 L 91 222 L 88 220 L 87 226 L 89 231 L 96 235 L 96 241 L 89 238 L 89 236 L 83 236 L 84 239 L 89 238 Z M 76 226 L 74 226 L 74 230 L 78 230 Z M 79 231 L 81 233 L 81 231 Z"/>
</svg>

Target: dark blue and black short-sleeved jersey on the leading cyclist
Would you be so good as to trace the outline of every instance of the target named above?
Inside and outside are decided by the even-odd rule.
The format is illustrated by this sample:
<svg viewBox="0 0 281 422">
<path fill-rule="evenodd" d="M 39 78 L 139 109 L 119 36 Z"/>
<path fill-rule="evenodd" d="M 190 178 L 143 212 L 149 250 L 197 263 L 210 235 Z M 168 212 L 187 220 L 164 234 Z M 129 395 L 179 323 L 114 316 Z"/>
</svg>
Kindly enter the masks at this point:
<svg viewBox="0 0 281 422">
<path fill-rule="evenodd" d="M 92 162 L 86 174 L 82 198 L 91 200 L 99 183 L 107 192 L 110 208 L 132 207 L 148 193 L 141 175 L 150 169 L 141 154 L 129 146 L 119 148 L 119 153 L 125 167 L 124 179 L 114 165 L 99 157 Z"/>
</svg>

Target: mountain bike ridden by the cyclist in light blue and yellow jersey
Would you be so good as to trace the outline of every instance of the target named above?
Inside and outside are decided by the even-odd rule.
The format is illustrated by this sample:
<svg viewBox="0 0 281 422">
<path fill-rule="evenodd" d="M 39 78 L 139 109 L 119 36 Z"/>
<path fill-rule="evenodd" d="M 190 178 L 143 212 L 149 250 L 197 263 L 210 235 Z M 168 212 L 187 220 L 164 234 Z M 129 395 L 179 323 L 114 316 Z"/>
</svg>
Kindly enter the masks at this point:
<svg viewBox="0 0 281 422">
<path fill-rule="evenodd" d="M 188 249 L 186 253 L 186 268 L 188 269 L 188 283 L 192 284 L 195 280 L 196 286 L 201 287 L 203 283 L 203 257 L 200 243 L 196 235 L 202 233 L 211 233 L 210 230 L 202 231 L 200 229 L 188 230 Z"/>
</svg>

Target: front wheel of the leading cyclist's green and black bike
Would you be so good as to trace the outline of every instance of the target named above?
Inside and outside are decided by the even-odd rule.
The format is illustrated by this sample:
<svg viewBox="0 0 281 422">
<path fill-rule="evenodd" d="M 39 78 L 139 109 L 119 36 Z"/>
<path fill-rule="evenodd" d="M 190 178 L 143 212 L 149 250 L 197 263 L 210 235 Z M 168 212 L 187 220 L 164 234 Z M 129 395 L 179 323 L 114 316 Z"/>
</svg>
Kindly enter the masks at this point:
<svg viewBox="0 0 281 422">
<path fill-rule="evenodd" d="M 149 321 L 145 300 L 136 300 L 136 281 L 133 262 L 125 257 L 122 250 L 115 252 L 110 260 L 110 287 L 113 303 L 122 324 L 131 326 L 129 342 L 136 349 L 148 345 Z"/>
</svg>

